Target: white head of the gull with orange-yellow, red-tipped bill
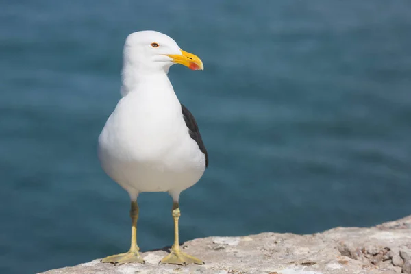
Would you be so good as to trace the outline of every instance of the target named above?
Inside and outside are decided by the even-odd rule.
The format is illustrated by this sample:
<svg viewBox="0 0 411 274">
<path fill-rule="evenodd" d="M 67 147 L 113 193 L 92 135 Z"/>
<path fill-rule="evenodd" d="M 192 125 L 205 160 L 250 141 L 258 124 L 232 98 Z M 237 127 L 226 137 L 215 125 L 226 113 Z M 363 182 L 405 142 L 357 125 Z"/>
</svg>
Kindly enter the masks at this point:
<svg viewBox="0 0 411 274">
<path fill-rule="evenodd" d="M 123 51 L 124 65 L 138 71 L 169 71 L 173 64 L 190 69 L 204 69 L 200 58 L 180 49 L 173 38 L 151 30 L 134 32 L 127 36 Z"/>
</svg>

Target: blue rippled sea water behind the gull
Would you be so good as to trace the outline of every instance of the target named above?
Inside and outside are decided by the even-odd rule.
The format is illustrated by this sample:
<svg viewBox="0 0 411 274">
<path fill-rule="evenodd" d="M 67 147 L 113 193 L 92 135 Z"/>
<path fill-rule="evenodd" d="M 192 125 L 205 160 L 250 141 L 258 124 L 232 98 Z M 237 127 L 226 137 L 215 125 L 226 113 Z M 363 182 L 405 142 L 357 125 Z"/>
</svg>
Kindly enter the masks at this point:
<svg viewBox="0 0 411 274">
<path fill-rule="evenodd" d="M 182 241 L 411 214 L 410 1 L 2 1 L 0 273 L 129 247 L 129 197 L 96 146 L 142 29 L 205 65 L 169 73 L 210 153 Z M 171 198 L 138 202 L 142 251 L 171 245 Z"/>
</svg>

